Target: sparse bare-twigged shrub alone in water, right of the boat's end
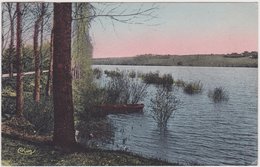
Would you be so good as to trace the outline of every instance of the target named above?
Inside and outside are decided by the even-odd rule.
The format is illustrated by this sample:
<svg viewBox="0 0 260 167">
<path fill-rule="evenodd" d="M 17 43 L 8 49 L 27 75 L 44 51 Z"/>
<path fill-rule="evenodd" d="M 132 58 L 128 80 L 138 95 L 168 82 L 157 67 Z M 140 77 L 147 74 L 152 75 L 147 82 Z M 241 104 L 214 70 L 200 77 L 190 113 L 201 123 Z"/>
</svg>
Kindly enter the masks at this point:
<svg viewBox="0 0 260 167">
<path fill-rule="evenodd" d="M 172 91 L 165 87 L 157 87 L 155 98 L 150 100 L 152 117 L 157 121 L 158 126 L 165 128 L 172 113 L 177 110 L 180 100 Z"/>
</svg>

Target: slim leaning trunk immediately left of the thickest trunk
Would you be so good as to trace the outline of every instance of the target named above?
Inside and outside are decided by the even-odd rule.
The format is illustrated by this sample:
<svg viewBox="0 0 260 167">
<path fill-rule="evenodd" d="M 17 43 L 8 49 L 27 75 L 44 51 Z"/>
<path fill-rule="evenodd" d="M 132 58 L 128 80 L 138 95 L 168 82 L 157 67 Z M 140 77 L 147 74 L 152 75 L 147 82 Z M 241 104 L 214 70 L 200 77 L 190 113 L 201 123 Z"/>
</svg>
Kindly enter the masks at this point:
<svg viewBox="0 0 260 167">
<path fill-rule="evenodd" d="M 52 91 L 52 79 L 53 79 L 53 29 L 51 30 L 51 42 L 50 42 L 50 64 L 49 64 L 49 72 L 48 79 L 46 84 L 46 96 L 51 96 Z"/>
</svg>

